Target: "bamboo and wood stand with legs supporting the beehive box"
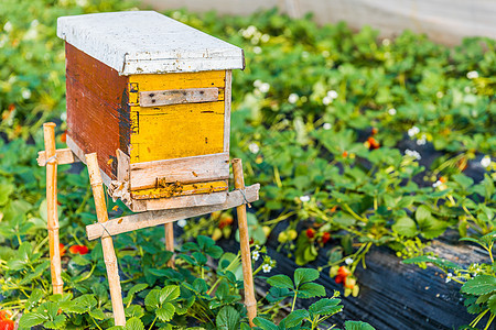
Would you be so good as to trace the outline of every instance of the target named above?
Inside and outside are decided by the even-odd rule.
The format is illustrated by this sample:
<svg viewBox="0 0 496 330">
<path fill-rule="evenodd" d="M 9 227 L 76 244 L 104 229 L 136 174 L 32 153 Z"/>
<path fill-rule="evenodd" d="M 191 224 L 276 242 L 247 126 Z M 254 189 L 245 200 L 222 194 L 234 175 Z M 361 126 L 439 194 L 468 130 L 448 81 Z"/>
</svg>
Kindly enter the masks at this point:
<svg viewBox="0 0 496 330">
<path fill-rule="evenodd" d="M 57 189 L 56 189 L 56 167 L 57 164 L 72 164 L 78 162 L 78 157 L 69 148 L 55 148 L 55 124 L 45 123 L 43 125 L 45 138 L 45 151 L 39 152 L 37 163 L 40 166 L 46 166 L 46 201 L 48 208 L 48 238 L 50 238 L 50 260 L 52 271 L 52 285 L 54 294 L 62 294 L 62 266 L 61 251 L 58 245 L 58 219 L 57 219 Z M 118 263 L 114 250 L 112 235 L 134 231 L 142 228 L 164 224 L 165 244 L 169 251 L 174 251 L 173 222 L 212 213 L 219 210 L 226 210 L 236 207 L 238 215 L 239 241 L 241 249 L 241 263 L 245 286 L 245 305 L 248 311 L 250 327 L 254 327 L 252 319 L 257 316 L 257 300 L 255 299 L 254 276 L 251 270 L 251 254 L 249 248 L 248 224 L 246 217 L 246 204 L 258 200 L 260 185 L 245 187 L 241 160 L 233 160 L 233 173 L 236 190 L 230 191 L 224 204 L 181 208 L 164 209 L 159 211 L 147 211 L 131 216 L 108 219 L 107 206 L 105 202 L 105 193 L 100 169 L 98 166 L 96 153 L 85 155 L 80 160 L 88 166 L 89 180 L 95 198 L 95 207 L 98 223 L 86 227 L 88 240 L 101 238 L 104 250 L 104 260 L 107 268 L 107 277 L 110 288 L 110 298 L 112 302 L 114 319 L 116 326 L 126 326 L 126 316 L 122 304 L 120 278 L 118 273 Z M 174 261 L 169 262 L 173 266 Z"/>
</svg>

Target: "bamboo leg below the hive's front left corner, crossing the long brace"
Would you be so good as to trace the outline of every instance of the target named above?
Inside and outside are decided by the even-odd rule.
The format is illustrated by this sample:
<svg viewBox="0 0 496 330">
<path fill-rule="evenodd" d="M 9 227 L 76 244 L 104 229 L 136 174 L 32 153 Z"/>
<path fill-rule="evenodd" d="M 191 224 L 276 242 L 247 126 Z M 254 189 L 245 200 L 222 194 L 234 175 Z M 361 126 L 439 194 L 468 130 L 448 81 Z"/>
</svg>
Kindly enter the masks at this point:
<svg viewBox="0 0 496 330">
<path fill-rule="evenodd" d="M 93 197 L 95 198 L 95 208 L 98 217 L 98 222 L 105 223 L 108 221 L 108 213 L 107 206 L 105 204 L 104 187 L 101 186 L 103 182 L 100 169 L 98 167 L 97 154 L 87 154 L 86 164 L 88 165 L 89 182 L 91 184 Z M 114 320 L 116 326 L 126 326 L 119 268 L 117 265 L 116 252 L 114 251 L 112 238 L 101 238 L 101 248 L 104 250 L 105 266 L 107 267 L 108 285 L 110 287 L 110 298 L 112 301 Z"/>
</svg>

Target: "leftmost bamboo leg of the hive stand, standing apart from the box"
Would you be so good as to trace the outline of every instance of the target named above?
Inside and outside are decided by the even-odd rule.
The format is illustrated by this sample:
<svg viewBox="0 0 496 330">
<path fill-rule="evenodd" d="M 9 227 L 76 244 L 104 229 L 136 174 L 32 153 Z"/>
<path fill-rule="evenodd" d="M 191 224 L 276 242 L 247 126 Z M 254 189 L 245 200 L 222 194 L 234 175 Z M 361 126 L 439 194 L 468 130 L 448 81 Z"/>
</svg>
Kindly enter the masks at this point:
<svg viewBox="0 0 496 330">
<path fill-rule="evenodd" d="M 48 218 L 48 244 L 52 286 L 54 294 L 62 294 L 64 282 L 62 280 L 61 248 L 58 240 L 57 215 L 57 160 L 55 156 L 55 124 L 43 124 L 46 155 L 46 205 Z M 54 157 L 54 158 L 51 158 Z"/>
</svg>

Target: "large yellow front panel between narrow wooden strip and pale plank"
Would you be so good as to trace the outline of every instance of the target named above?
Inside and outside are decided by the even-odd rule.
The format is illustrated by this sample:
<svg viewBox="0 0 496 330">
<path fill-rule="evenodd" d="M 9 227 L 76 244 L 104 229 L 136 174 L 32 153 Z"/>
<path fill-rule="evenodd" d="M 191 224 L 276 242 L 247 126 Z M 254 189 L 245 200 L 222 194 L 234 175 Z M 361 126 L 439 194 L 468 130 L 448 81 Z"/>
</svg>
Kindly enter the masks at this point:
<svg viewBox="0 0 496 330">
<path fill-rule="evenodd" d="M 224 101 L 131 107 L 131 163 L 224 151 Z"/>
</svg>

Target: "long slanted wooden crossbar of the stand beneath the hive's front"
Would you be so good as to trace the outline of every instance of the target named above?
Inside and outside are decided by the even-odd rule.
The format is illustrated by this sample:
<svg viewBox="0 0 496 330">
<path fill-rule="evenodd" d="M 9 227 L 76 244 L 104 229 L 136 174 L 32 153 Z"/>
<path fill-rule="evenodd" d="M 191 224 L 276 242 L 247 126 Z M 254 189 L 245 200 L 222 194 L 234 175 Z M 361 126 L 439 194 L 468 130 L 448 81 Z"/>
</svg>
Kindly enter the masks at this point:
<svg viewBox="0 0 496 330">
<path fill-rule="evenodd" d="M 248 202 L 258 200 L 258 191 L 260 185 L 251 185 L 246 187 L 245 196 Z M 105 223 L 105 229 L 99 223 L 89 224 L 86 227 L 86 233 L 88 240 L 96 240 L 101 237 L 117 235 L 120 233 L 134 231 L 142 228 L 154 227 L 164 224 L 180 219 L 187 219 L 192 217 L 198 217 L 208 215 L 219 210 L 226 210 L 239 205 L 246 204 L 244 195 L 239 190 L 234 190 L 228 194 L 228 197 L 224 204 L 203 206 L 195 208 L 180 208 L 180 209 L 165 209 L 161 211 L 150 211 L 144 213 L 138 213 L 121 218 L 116 218 Z"/>
</svg>

